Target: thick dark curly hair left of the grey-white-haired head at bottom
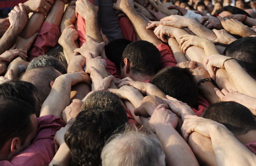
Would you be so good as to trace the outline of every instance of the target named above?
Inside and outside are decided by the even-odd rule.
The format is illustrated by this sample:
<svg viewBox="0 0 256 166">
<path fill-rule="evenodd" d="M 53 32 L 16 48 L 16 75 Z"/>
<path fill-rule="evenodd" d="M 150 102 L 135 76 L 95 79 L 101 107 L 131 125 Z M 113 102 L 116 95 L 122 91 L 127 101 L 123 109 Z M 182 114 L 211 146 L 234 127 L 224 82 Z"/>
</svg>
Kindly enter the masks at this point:
<svg viewBox="0 0 256 166">
<path fill-rule="evenodd" d="M 65 134 L 72 165 L 101 165 L 101 151 L 118 127 L 127 122 L 116 110 L 88 108 L 76 117 Z"/>
</svg>

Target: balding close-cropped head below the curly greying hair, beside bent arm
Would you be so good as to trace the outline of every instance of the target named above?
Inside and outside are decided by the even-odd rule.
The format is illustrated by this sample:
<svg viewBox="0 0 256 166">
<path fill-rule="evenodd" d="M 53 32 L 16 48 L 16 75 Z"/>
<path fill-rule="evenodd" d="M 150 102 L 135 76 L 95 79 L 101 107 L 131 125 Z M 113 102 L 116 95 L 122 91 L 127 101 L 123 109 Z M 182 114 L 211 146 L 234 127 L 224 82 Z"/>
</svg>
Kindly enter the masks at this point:
<svg viewBox="0 0 256 166">
<path fill-rule="evenodd" d="M 51 92 L 50 83 L 55 81 L 58 76 L 60 76 L 60 73 L 52 66 L 45 66 L 27 70 L 20 80 L 30 82 L 36 86 L 40 104 L 43 104 Z"/>
</svg>

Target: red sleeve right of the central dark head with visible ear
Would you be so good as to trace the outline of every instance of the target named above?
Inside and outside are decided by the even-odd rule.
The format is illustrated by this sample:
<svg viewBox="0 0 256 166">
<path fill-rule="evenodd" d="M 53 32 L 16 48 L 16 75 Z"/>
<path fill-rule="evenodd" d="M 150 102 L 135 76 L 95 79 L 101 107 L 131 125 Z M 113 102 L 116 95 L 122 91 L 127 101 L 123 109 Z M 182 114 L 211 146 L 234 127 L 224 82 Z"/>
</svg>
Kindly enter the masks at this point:
<svg viewBox="0 0 256 166">
<path fill-rule="evenodd" d="M 176 66 L 177 62 L 172 54 L 170 47 L 166 44 L 156 46 L 161 56 L 161 69 L 164 67 Z"/>
</svg>

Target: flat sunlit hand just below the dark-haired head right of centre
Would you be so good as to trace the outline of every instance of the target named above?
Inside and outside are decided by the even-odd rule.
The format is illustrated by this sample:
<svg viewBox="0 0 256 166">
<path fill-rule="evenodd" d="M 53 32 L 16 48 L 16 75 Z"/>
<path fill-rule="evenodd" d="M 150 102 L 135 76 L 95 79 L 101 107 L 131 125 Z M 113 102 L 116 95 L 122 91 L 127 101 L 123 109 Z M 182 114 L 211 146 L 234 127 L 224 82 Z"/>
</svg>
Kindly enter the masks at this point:
<svg viewBox="0 0 256 166">
<path fill-rule="evenodd" d="M 183 103 L 175 99 L 174 97 L 166 95 L 167 99 L 164 99 L 164 102 L 167 103 L 169 109 L 174 112 L 182 121 L 186 115 L 195 115 L 191 107 L 187 103 Z"/>
</svg>

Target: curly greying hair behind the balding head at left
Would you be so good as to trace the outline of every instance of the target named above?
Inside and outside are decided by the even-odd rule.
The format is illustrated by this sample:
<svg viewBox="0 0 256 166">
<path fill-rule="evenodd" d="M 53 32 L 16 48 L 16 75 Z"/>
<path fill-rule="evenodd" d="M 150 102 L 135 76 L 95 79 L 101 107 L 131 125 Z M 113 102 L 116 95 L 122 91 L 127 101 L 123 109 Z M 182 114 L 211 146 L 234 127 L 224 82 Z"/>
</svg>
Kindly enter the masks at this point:
<svg viewBox="0 0 256 166">
<path fill-rule="evenodd" d="M 52 57 L 52 56 L 39 56 L 35 59 L 32 59 L 30 63 L 28 63 L 27 70 L 33 69 L 35 67 L 44 67 L 44 66 L 52 66 L 57 71 L 60 71 L 62 74 L 67 73 L 66 67 L 61 63 L 58 59 Z"/>
</svg>

